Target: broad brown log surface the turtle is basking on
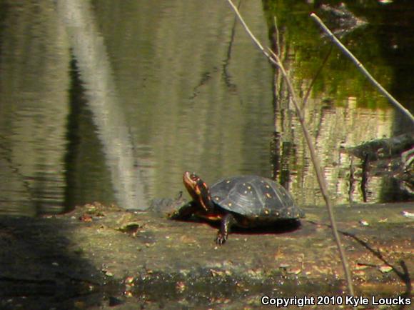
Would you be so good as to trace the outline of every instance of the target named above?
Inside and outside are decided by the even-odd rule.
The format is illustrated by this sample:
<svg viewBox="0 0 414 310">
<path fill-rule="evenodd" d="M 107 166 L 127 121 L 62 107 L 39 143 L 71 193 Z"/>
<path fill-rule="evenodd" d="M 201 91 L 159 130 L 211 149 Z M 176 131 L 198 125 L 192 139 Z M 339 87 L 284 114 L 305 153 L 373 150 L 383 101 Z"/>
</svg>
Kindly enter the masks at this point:
<svg viewBox="0 0 414 310">
<path fill-rule="evenodd" d="M 211 224 L 164 211 L 95 203 L 1 216 L 0 309 L 260 309 L 263 295 L 345 296 L 327 212 L 303 209 L 299 227 L 235 231 L 223 246 Z M 414 203 L 335 207 L 358 295 L 410 296 L 414 219 L 403 211 Z"/>
</svg>

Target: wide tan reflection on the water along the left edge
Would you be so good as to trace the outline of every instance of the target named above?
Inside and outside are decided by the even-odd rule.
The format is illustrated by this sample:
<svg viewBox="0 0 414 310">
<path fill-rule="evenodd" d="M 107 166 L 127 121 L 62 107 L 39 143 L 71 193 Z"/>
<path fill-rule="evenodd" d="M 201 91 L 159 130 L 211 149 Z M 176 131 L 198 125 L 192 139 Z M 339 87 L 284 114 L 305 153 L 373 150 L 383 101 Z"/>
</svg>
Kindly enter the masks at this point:
<svg viewBox="0 0 414 310">
<path fill-rule="evenodd" d="M 12 1 L 1 8 L 0 209 L 6 212 L 56 211 L 64 198 L 69 46 L 50 5 Z M 41 16 L 36 23 L 34 16 Z"/>
</svg>

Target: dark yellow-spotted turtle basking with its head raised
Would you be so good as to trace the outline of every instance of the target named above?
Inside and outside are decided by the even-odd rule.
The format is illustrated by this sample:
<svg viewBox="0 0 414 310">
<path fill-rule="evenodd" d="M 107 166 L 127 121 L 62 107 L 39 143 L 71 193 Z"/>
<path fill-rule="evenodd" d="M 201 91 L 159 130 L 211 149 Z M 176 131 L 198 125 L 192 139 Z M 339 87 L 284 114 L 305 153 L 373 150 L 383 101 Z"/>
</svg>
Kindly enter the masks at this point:
<svg viewBox="0 0 414 310">
<path fill-rule="evenodd" d="M 305 212 L 276 181 L 262 176 L 232 176 L 217 181 L 211 189 L 194 172 L 183 174 L 183 183 L 192 201 L 170 214 L 170 219 L 186 220 L 195 215 L 221 221 L 216 244 L 224 244 L 232 226 L 266 226 L 275 221 L 296 221 Z"/>
</svg>

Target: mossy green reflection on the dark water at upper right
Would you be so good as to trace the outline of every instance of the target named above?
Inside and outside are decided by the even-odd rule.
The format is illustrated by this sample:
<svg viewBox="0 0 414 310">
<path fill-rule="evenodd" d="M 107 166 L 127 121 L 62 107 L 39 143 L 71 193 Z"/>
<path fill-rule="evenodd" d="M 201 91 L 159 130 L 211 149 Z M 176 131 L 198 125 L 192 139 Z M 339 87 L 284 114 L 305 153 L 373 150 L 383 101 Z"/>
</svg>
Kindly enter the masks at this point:
<svg viewBox="0 0 414 310">
<path fill-rule="evenodd" d="M 335 5 L 335 1 L 330 2 L 331 5 Z M 306 84 L 309 84 L 331 46 L 330 41 L 322 36 L 318 24 L 309 17 L 311 12 L 315 11 L 318 14 L 318 11 L 305 1 L 293 0 L 264 0 L 263 9 L 269 34 L 273 32 L 276 16 L 282 50 L 285 51 L 282 58 L 283 61 L 290 62 L 296 84 L 303 84 L 303 81 L 308 81 Z M 350 32 L 341 41 L 375 79 L 388 88 L 393 81 L 393 68 L 381 56 L 381 44 L 378 36 L 373 33 L 376 30 L 374 26 L 363 26 Z M 355 97 L 360 107 L 389 106 L 336 46 L 333 46 L 328 61 L 316 79 L 311 96 L 332 99 L 335 105 L 341 105 L 349 97 Z"/>
</svg>

